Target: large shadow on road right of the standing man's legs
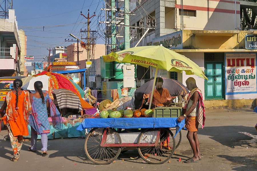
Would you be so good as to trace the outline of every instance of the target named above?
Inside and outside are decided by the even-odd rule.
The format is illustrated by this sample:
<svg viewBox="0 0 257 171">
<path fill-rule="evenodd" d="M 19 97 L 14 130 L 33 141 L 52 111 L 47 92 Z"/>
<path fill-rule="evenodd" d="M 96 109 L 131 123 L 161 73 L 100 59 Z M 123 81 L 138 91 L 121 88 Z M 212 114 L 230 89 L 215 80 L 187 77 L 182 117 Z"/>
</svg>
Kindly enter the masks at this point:
<svg viewBox="0 0 257 171">
<path fill-rule="evenodd" d="M 242 133 L 239 133 L 242 132 Z M 244 134 L 245 133 L 245 134 Z M 245 126 L 217 126 L 217 127 L 204 127 L 199 129 L 198 135 L 210 136 L 210 139 L 216 142 L 234 148 L 234 146 L 252 147 L 257 148 L 257 134 L 254 127 Z M 255 141 L 256 140 L 256 141 Z M 255 143 L 254 143 L 255 141 Z"/>
</svg>

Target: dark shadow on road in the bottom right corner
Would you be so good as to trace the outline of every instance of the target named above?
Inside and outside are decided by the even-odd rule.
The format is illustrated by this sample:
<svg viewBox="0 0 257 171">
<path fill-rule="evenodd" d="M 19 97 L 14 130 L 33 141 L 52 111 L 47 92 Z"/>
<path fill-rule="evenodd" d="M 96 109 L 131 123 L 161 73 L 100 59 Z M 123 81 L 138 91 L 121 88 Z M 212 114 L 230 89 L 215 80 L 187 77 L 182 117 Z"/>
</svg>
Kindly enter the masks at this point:
<svg viewBox="0 0 257 171">
<path fill-rule="evenodd" d="M 257 168 L 257 155 L 253 156 L 228 156 L 218 155 L 218 157 L 225 158 L 230 162 L 233 162 L 231 166 L 232 170 L 256 170 Z"/>
</svg>

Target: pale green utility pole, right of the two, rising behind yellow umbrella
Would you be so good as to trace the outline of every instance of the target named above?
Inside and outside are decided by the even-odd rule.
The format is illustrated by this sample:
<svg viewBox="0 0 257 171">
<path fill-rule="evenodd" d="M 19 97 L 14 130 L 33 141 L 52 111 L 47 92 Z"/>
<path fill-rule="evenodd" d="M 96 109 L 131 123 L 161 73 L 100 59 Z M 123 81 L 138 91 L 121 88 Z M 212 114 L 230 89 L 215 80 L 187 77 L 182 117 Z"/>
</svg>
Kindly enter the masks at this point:
<svg viewBox="0 0 257 171">
<path fill-rule="evenodd" d="M 124 24 L 129 25 L 129 0 L 124 0 Z M 124 28 L 124 49 L 130 48 L 130 31 L 129 27 Z"/>
</svg>

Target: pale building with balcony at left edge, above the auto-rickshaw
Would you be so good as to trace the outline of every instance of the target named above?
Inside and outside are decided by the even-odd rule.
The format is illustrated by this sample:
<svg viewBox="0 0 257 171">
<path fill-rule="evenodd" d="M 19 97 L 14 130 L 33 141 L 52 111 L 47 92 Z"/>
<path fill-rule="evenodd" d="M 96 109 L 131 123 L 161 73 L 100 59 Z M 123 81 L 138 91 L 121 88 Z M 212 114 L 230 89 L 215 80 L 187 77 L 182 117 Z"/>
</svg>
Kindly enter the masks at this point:
<svg viewBox="0 0 257 171">
<path fill-rule="evenodd" d="M 9 19 L 0 19 L 0 77 L 20 76 L 21 40 L 15 10 L 9 9 Z"/>
</svg>

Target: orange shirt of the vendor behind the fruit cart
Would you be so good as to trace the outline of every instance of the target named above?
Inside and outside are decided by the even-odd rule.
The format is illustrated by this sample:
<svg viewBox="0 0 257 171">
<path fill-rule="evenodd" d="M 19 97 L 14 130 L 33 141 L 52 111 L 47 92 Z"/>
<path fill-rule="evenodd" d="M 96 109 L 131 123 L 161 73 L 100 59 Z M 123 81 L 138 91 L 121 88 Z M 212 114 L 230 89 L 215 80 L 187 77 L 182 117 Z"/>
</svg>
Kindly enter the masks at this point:
<svg viewBox="0 0 257 171">
<path fill-rule="evenodd" d="M 147 103 L 150 103 L 150 98 L 151 98 L 152 91 L 149 93 L 148 101 Z M 168 100 L 171 100 L 170 93 L 168 89 L 162 88 L 162 95 L 157 91 L 157 89 L 154 89 L 153 97 L 152 97 L 152 104 L 153 105 L 158 105 L 160 103 L 166 103 Z"/>
</svg>

